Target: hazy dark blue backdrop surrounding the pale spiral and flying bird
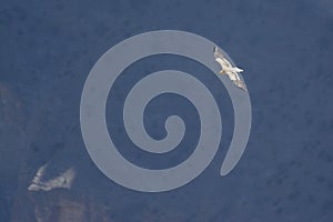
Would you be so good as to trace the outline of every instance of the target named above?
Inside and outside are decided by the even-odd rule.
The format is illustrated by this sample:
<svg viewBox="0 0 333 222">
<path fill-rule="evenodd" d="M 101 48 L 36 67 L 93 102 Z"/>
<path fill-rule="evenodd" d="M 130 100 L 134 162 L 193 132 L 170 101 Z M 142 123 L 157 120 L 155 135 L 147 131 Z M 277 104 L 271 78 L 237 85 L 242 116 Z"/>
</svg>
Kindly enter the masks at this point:
<svg viewBox="0 0 333 222">
<path fill-rule="evenodd" d="M 221 178 L 233 127 L 225 90 L 190 60 L 163 57 L 133 64 L 113 89 L 118 100 L 110 99 L 108 109 L 121 104 L 122 85 L 147 71 L 173 68 L 202 77 L 225 110 L 223 142 L 212 164 L 181 189 L 147 194 L 117 185 L 94 167 L 82 142 L 79 104 L 90 69 L 109 48 L 159 29 L 203 36 L 245 70 L 253 124 L 243 158 Z M 65 200 L 83 203 L 87 221 L 97 214 L 107 221 L 333 221 L 332 59 L 329 0 L 1 0 L 0 221 L 37 221 L 38 212 L 59 221 Z M 193 107 L 180 97 L 151 103 L 154 120 L 147 125 L 153 137 L 163 137 L 161 118 L 180 105 L 178 114 L 195 119 Z M 129 143 L 117 117 L 108 115 L 118 128 L 113 137 Z M 198 122 L 189 124 L 183 147 L 191 149 Z M 125 145 L 124 154 L 144 165 L 150 158 L 131 154 L 132 148 Z M 178 152 L 151 164 L 175 164 L 190 154 Z M 51 165 L 50 176 L 74 167 L 72 189 L 28 192 L 44 163 Z"/>
</svg>

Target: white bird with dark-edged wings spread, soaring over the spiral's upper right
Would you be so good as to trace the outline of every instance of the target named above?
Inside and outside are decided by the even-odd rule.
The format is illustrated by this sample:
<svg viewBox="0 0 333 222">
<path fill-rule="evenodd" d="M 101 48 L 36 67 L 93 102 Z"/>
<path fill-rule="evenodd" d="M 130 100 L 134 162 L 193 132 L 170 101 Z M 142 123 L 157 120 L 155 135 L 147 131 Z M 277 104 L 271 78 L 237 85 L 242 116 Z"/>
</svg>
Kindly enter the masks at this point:
<svg viewBox="0 0 333 222">
<path fill-rule="evenodd" d="M 220 74 L 226 74 L 229 77 L 229 79 L 240 89 L 244 90 L 245 92 L 248 92 L 246 85 L 244 83 L 244 81 L 240 78 L 240 72 L 242 72 L 243 70 L 238 68 L 238 67 L 233 67 L 228 59 L 225 58 L 225 56 L 219 50 L 218 47 L 214 47 L 214 58 L 215 61 L 221 65 L 222 70 L 219 72 Z"/>
</svg>

